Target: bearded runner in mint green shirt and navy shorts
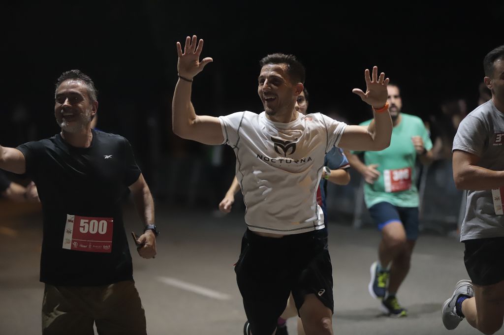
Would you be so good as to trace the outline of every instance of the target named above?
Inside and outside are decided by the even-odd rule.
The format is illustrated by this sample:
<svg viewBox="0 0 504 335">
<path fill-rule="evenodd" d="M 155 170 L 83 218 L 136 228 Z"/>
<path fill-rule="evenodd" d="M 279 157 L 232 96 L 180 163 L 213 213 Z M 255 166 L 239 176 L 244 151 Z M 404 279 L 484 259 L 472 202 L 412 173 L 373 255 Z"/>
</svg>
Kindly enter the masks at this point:
<svg viewBox="0 0 504 335">
<path fill-rule="evenodd" d="M 389 84 L 389 110 L 394 124 L 390 147 L 377 152 L 345 154 L 352 167 L 362 174 L 364 200 L 369 214 L 382 232 L 379 260 L 371 265 L 369 293 L 382 299 L 391 316 L 406 316 L 396 294 L 408 274 L 411 253 L 418 237 L 418 190 L 415 163 L 432 160 L 432 142 L 422 120 L 401 113 L 399 87 Z M 371 120 L 362 122 L 367 125 Z M 363 154 L 362 162 L 358 154 Z M 389 270 L 390 269 L 390 270 Z"/>
</svg>

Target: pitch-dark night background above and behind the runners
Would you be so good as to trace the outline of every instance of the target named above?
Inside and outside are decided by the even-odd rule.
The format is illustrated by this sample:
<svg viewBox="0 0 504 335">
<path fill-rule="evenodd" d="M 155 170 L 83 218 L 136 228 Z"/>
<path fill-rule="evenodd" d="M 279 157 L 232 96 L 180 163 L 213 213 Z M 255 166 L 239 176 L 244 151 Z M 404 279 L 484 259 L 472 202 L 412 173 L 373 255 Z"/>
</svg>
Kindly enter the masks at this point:
<svg viewBox="0 0 504 335">
<path fill-rule="evenodd" d="M 402 87 L 405 112 L 428 119 L 451 98 L 466 99 L 472 110 L 482 59 L 504 42 L 504 2 L 153 0 L 3 7 L 0 143 L 16 146 L 58 132 L 53 84 L 61 72 L 80 69 L 100 92 L 98 128 L 127 137 L 147 179 L 158 185 L 176 172 L 172 159 L 212 155 L 211 148 L 171 131 L 175 42 L 189 34 L 204 38 L 203 56 L 214 58 L 195 78 L 197 113 L 262 111 L 259 59 L 284 52 L 306 66 L 309 111 L 336 112 L 351 123 L 370 117 L 351 90 L 365 87 L 363 70 L 375 64 Z M 224 148 L 223 157 L 221 165 L 231 166 L 224 169 L 231 175 L 222 177 L 227 183 L 232 151 Z M 163 195 L 163 186 L 154 188 Z"/>
</svg>

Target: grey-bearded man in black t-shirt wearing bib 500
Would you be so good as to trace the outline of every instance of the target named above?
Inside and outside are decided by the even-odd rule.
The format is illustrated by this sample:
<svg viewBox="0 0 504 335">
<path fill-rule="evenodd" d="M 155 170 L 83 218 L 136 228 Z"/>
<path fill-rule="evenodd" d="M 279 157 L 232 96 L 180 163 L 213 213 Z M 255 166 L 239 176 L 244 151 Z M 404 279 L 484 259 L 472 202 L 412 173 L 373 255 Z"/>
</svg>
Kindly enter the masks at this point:
<svg viewBox="0 0 504 335">
<path fill-rule="evenodd" d="M 40 281 L 43 334 L 145 334 L 133 281 L 121 199 L 128 188 L 145 225 L 144 258 L 156 254 L 154 202 L 128 140 L 91 129 L 97 91 L 79 70 L 56 82 L 54 116 L 61 132 L 18 148 L 0 146 L 0 168 L 26 173 L 42 203 Z"/>
</svg>

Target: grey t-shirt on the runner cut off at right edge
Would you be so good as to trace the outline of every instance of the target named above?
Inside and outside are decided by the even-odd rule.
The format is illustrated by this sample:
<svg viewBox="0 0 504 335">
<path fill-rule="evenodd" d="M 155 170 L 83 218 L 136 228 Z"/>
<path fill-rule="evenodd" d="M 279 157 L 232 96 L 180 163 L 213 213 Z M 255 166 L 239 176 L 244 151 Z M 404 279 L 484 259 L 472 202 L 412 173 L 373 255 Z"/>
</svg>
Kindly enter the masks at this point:
<svg viewBox="0 0 504 335">
<path fill-rule="evenodd" d="M 490 100 L 473 110 L 459 125 L 453 150 L 461 150 L 480 157 L 478 166 L 504 170 L 504 113 Z M 502 199 L 504 187 L 472 191 L 466 195 L 466 214 L 460 240 L 504 237 Z M 502 195 L 501 195 L 502 194 Z"/>
</svg>

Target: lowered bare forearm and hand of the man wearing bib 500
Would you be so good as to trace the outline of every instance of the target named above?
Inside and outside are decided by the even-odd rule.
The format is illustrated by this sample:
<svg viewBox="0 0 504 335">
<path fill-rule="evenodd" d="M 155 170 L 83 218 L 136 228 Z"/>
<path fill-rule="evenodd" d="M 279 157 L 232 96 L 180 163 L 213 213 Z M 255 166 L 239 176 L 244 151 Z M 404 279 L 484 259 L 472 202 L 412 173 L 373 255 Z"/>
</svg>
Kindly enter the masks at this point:
<svg viewBox="0 0 504 335">
<path fill-rule="evenodd" d="M 144 179 L 144 176 L 140 174 L 140 177 L 131 186 L 129 186 L 132 195 L 133 202 L 137 208 L 137 212 L 146 225 L 154 224 L 154 199 L 152 198 L 149 186 Z M 156 255 L 156 235 L 152 230 L 146 230 L 137 240 L 138 244 L 143 245 L 138 249 L 140 256 L 144 258 L 152 258 Z"/>
</svg>

